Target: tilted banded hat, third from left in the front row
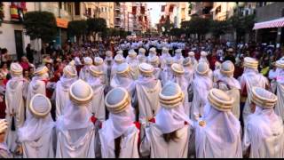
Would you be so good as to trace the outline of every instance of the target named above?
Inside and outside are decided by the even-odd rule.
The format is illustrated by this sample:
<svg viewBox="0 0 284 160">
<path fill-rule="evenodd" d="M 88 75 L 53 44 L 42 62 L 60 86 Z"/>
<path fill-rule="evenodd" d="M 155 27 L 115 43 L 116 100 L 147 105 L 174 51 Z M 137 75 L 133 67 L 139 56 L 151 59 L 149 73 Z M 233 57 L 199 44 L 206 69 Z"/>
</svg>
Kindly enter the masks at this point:
<svg viewBox="0 0 284 160">
<path fill-rule="evenodd" d="M 105 103 L 110 113 L 121 113 L 130 106 L 130 94 L 122 87 L 114 88 L 107 92 Z"/>
</svg>

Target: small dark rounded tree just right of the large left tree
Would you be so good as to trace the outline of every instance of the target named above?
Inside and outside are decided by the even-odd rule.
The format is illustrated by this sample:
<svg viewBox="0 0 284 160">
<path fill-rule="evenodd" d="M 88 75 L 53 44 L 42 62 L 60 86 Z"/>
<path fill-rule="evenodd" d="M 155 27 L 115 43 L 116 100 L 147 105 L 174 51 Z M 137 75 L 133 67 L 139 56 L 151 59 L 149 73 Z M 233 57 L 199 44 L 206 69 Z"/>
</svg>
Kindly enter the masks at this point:
<svg viewBox="0 0 284 160">
<path fill-rule="evenodd" d="M 68 32 L 72 36 L 76 36 L 78 42 L 80 37 L 86 33 L 87 30 L 87 21 L 86 20 L 73 20 L 68 23 Z"/>
</svg>

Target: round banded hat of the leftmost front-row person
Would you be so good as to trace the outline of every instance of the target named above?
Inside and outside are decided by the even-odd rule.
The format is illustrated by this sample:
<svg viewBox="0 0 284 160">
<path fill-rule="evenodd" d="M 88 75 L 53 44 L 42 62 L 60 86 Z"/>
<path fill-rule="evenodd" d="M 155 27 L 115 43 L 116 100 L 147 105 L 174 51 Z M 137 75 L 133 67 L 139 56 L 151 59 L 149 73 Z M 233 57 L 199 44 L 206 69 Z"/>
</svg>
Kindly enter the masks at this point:
<svg viewBox="0 0 284 160">
<path fill-rule="evenodd" d="M 36 117 L 45 117 L 51 113 L 51 100 L 43 94 L 36 94 L 29 102 L 29 109 Z"/>
</svg>

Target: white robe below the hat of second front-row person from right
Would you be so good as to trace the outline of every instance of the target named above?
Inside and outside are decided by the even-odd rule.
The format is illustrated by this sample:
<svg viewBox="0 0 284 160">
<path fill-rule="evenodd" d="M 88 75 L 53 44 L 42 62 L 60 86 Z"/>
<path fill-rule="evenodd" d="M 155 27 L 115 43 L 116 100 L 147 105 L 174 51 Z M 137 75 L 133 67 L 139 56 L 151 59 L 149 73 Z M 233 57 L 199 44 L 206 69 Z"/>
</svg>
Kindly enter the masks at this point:
<svg viewBox="0 0 284 160">
<path fill-rule="evenodd" d="M 241 124 L 232 112 L 205 106 L 205 126 L 195 125 L 197 158 L 241 158 Z"/>
</svg>

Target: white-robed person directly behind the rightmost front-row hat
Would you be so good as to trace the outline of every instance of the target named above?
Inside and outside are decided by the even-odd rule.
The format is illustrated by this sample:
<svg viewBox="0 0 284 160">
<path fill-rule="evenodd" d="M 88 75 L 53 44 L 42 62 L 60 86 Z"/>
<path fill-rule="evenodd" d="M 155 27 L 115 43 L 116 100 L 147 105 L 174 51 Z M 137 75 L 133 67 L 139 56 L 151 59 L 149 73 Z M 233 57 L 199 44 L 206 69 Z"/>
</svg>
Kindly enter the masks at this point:
<svg viewBox="0 0 284 160">
<path fill-rule="evenodd" d="M 248 96 L 249 93 L 251 92 L 251 88 L 254 86 L 268 88 L 269 83 L 267 78 L 258 72 L 257 60 L 250 57 L 246 57 L 244 58 L 243 66 L 244 66 L 244 72 L 240 78 L 240 84 L 241 84 L 241 102 L 245 102 L 242 111 L 242 121 L 245 125 L 247 122 L 248 115 L 254 112 L 254 108 L 250 107 L 251 100 Z"/>
</svg>

